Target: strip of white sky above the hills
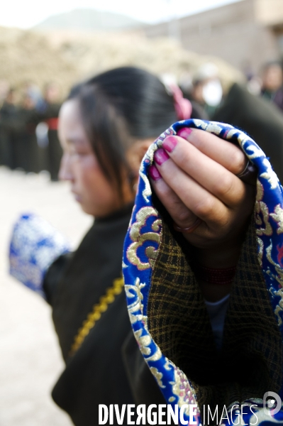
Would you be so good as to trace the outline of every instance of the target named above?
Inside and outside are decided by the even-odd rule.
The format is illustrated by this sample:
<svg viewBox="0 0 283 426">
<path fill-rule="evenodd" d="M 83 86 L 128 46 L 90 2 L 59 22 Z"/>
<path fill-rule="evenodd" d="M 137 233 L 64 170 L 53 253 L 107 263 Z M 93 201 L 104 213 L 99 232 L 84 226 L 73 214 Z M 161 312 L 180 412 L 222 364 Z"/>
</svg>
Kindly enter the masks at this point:
<svg viewBox="0 0 283 426">
<path fill-rule="evenodd" d="M 50 15 L 77 8 L 123 13 L 148 23 L 185 16 L 237 0 L 8 0 L 1 1 L 0 26 L 30 28 Z M 243 1 L 243 0 L 238 0 Z"/>
</svg>

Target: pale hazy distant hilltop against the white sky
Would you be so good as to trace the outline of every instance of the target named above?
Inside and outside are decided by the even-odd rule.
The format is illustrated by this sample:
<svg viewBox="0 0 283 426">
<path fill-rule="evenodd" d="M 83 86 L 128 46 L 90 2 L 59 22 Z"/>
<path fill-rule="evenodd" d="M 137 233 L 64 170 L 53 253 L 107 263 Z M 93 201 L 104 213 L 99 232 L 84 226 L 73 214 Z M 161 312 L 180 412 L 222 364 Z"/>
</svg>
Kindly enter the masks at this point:
<svg viewBox="0 0 283 426">
<path fill-rule="evenodd" d="M 34 27 L 35 30 L 118 31 L 144 25 L 119 13 L 74 9 L 67 13 L 50 16 Z"/>
</svg>

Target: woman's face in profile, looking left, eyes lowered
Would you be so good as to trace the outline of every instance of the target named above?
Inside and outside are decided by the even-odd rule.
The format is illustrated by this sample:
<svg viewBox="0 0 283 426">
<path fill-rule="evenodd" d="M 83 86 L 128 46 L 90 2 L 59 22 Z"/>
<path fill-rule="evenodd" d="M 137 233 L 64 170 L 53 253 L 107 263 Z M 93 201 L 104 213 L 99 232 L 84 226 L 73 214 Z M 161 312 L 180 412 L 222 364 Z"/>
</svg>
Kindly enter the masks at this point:
<svg viewBox="0 0 283 426">
<path fill-rule="evenodd" d="M 63 149 L 59 177 L 69 180 L 72 193 L 84 212 L 105 217 L 121 207 L 117 191 L 105 178 L 91 148 L 79 114 L 77 100 L 60 109 L 59 138 Z"/>
</svg>

